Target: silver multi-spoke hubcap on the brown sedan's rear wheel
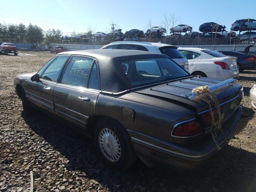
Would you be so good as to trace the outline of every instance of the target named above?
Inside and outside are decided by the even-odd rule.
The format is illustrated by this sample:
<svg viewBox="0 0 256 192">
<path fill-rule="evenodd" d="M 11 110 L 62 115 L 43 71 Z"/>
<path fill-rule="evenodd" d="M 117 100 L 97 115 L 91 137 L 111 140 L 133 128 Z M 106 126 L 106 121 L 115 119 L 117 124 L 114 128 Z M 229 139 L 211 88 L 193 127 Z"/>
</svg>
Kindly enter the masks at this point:
<svg viewBox="0 0 256 192">
<path fill-rule="evenodd" d="M 116 134 L 108 129 L 103 128 L 99 134 L 99 146 L 102 154 L 110 162 L 117 162 L 121 156 L 121 145 Z"/>
</svg>

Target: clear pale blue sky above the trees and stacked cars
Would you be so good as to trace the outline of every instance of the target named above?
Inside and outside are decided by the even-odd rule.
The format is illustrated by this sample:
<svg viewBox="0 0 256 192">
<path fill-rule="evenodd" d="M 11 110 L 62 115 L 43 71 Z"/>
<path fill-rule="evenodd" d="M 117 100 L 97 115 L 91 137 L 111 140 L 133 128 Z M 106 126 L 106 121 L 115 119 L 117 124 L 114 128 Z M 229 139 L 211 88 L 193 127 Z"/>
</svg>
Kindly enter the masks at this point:
<svg viewBox="0 0 256 192">
<path fill-rule="evenodd" d="M 256 19 L 256 0 L 8 0 L 1 7 L 0 23 L 31 22 L 44 30 L 58 28 L 64 35 L 87 32 L 90 25 L 94 32 L 106 32 L 112 22 L 122 32 L 146 31 L 150 20 L 152 26 L 162 26 L 164 13 L 175 13 L 180 18 L 176 24 L 191 25 L 193 31 L 204 22 L 217 22 L 230 30 L 236 19 Z"/>
</svg>

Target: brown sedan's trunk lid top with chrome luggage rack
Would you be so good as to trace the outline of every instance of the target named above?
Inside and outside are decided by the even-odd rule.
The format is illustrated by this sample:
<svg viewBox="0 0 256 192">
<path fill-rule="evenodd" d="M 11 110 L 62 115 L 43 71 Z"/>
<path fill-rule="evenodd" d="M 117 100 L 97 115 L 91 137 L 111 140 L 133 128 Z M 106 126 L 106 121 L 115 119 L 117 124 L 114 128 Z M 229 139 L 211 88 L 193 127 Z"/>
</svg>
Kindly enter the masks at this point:
<svg viewBox="0 0 256 192">
<path fill-rule="evenodd" d="M 209 90 L 222 104 L 228 100 L 242 94 L 242 86 L 234 84 L 235 79 L 221 80 L 216 78 L 192 77 L 173 82 L 160 84 L 135 92 L 167 100 L 180 106 L 202 112 L 209 109 L 206 102 L 201 101 L 192 90 L 199 86 L 209 86 Z"/>
</svg>

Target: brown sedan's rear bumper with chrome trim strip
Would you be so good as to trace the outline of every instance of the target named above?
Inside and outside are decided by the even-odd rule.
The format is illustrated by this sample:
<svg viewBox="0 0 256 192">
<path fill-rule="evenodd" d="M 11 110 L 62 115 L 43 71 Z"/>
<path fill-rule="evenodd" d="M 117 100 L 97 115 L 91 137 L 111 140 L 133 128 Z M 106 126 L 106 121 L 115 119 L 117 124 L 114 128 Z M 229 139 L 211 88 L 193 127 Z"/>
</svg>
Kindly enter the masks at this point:
<svg viewBox="0 0 256 192">
<path fill-rule="evenodd" d="M 232 117 L 222 125 L 224 134 L 219 131 L 216 137 L 219 146 L 226 145 L 235 135 L 241 114 L 242 108 L 239 106 Z M 146 165 L 152 167 L 197 168 L 218 151 L 211 136 L 207 136 L 198 144 L 185 146 L 133 131 L 130 134 L 138 156 Z"/>
</svg>

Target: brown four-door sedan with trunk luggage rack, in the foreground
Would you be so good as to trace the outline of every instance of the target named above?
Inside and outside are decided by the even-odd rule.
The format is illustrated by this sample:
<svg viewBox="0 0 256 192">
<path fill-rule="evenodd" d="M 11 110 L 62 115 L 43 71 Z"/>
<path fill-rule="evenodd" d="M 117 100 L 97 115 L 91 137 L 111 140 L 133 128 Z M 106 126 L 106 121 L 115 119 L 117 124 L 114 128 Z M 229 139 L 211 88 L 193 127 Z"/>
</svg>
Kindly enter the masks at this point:
<svg viewBox="0 0 256 192">
<path fill-rule="evenodd" d="M 191 168 L 237 131 L 243 92 L 233 81 L 193 77 L 164 54 L 85 50 L 57 54 L 37 73 L 17 76 L 14 89 L 27 115 L 42 110 L 92 137 L 114 170 L 132 166 L 137 157 L 148 166 Z M 216 143 L 210 108 L 192 93 L 202 85 L 220 103 Z"/>
</svg>

